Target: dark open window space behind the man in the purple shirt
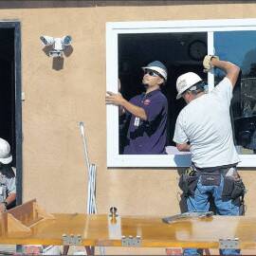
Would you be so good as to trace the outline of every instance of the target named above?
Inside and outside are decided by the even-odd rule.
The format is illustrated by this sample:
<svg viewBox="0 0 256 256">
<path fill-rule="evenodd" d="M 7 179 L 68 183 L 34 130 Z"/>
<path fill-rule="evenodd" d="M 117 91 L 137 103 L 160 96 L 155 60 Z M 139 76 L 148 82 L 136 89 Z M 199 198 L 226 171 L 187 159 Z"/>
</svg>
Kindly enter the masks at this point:
<svg viewBox="0 0 256 256">
<path fill-rule="evenodd" d="M 192 71 L 207 80 L 202 61 L 207 54 L 207 33 L 140 33 L 119 34 L 119 80 L 120 92 L 126 100 L 143 92 L 141 84 L 145 66 L 160 61 L 167 66 L 168 80 L 162 88 L 168 100 L 167 146 L 173 146 L 174 126 L 185 101 L 176 101 L 175 82 L 178 76 Z M 121 122 L 121 121 L 120 121 Z M 124 141 L 127 133 L 119 133 L 119 141 Z M 121 154 L 121 145 L 119 154 Z"/>
</svg>

